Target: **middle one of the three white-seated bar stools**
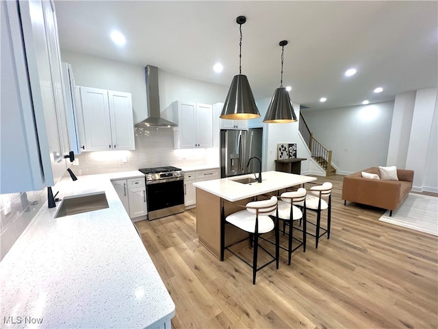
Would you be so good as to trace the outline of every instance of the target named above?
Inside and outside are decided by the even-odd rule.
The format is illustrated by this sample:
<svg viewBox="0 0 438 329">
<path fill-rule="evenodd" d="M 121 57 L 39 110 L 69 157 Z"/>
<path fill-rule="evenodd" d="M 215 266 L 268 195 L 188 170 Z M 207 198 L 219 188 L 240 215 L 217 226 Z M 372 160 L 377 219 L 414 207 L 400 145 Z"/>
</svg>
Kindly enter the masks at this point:
<svg viewBox="0 0 438 329">
<path fill-rule="evenodd" d="M 305 188 L 298 188 L 298 191 L 294 192 L 285 192 L 282 193 L 279 200 L 279 222 L 283 222 L 283 229 L 279 229 L 283 235 L 287 234 L 287 247 L 283 247 L 281 243 L 279 244 L 279 248 L 287 251 L 287 265 L 290 265 L 292 260 L 292 252 L 295 252 L 298 248 L 302 247 L 303 251 L 306 251 L 306 194 L 307 191 Z M 298 219 L 304 219 L 304 224 L 302 226 L 302 230 L 296 228 L 296 230 L 300 230 L 302 232 L 302 239 L 297 239 L 294 237 L 294 221 L 298 221 Z M 286 226 L 289 226 L 289 231 L 286 232 Z M 263 239 L 263 237 L 261 237 Z M 268 239 L 263 239 L 270 243 L 272 241 Z M 295 240 L 299 244 L 296 247 L 292 248 L 292 241 Z"/>
</svg>

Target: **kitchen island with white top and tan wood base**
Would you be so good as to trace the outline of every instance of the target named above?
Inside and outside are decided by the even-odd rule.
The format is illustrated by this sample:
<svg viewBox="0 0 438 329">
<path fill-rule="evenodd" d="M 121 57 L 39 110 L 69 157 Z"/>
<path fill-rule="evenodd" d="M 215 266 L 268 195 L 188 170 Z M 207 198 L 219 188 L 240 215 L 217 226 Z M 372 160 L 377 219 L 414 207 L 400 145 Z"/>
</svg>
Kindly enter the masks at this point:
<svg viewBox="0 0 438 329">
<path fill-rule="evenodd" d="M 196 182 L 196 230 L 199 242 L 214 256 L 220 259 L 221 213 L 224 215 L 242 210 L 236 205 L 245 205 L 257 195 L 275 193 L 276 191 L 305 184 L 316 180 L 314 177 L 283 173 L 280 171 L 266 171 L 261 173 L 261 183 L 242 184 L 236 180 L 254 178 L 254 174 L 240 175 L 220 180 Z M 233 226 L 225 227 L 225 244 L 229 245 L 246 236 Z M 235 245 L 235 249 L 242 249 L 244 245 Z M 228 256 L 228 254 L 225 254 Z"/>
</svg>

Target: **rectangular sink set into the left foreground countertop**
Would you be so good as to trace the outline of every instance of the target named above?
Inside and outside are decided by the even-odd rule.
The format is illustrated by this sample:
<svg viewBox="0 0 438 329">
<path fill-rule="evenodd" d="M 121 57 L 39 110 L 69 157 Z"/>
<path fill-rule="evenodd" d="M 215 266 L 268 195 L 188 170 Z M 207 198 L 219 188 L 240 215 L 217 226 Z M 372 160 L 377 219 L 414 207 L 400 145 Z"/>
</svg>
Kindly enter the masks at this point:
<svg viewBox="0 0 438 329">
<path fill-rule="evenodd" d="M 105 192 L 70 195 L 62 199 L 55 218 L 109 208 Z"/>
</svg>

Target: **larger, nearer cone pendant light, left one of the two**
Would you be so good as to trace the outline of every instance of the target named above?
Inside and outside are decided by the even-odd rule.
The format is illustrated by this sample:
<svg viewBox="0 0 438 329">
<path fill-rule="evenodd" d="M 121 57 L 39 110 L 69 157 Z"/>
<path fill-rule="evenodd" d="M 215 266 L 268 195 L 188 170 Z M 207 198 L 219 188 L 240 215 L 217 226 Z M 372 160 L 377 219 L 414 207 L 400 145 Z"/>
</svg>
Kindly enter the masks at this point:
<svg viewBox="0 0 438 329">
<path fill-rule="evenodd" d="M 255 105 L 248 78 L 246 75 L 242 75 L 242 24 L 246 22 L 246 17 L 238 16 L 235 21 L 240 25 L 239 74 L 233 77 L 220 118 L 233 120 L 255 119 L 260 117 L 259 110 Z"/>
</svg>

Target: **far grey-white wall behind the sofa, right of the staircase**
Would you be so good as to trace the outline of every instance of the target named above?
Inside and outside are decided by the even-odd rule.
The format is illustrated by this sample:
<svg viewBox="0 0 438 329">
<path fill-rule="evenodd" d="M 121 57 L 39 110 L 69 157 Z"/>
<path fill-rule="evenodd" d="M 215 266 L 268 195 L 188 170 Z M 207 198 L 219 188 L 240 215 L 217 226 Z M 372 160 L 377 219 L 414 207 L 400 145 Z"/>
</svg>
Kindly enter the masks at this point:
<svg viewBox="0 0 438 329">
<path fill-rule="evenodd" d="M 393 101 L 331 110 L 303 110 L 313 136 L 329 150 L 338 173 L 385 165 Z"/>
</svg>

